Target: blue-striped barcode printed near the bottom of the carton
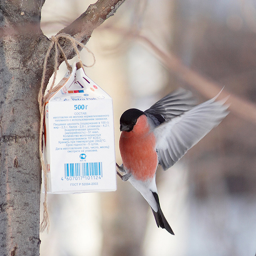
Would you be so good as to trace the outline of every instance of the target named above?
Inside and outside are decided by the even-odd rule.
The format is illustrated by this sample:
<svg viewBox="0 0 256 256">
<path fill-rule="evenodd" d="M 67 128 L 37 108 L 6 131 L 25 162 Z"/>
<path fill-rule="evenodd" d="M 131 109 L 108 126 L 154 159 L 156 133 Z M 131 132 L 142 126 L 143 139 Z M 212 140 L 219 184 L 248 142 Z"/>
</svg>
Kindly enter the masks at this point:
<svg viewBox="0 0 256 256">
<path fill-rule="evenodd" d="M 64 164 L 65 178 L 82 176 L 103 176 L 102 162 Z"/>
</svg>

